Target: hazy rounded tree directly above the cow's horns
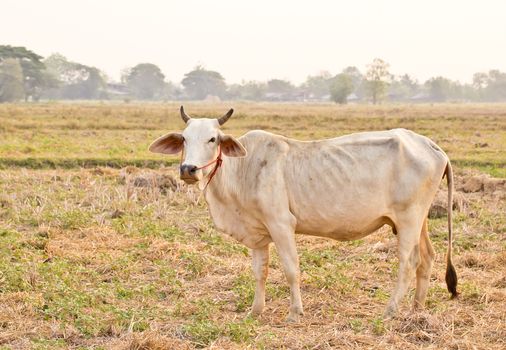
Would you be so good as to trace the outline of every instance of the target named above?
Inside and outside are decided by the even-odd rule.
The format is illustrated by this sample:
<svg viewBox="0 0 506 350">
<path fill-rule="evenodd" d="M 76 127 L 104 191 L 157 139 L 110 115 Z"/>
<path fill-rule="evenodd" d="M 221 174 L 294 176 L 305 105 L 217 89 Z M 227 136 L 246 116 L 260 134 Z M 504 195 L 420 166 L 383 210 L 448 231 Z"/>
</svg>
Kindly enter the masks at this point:
<svg viewBox="0 0 506 350">
<path fill-rule="evenodd" d="M 203 100 L 208 95 L 225 96 L 227 85 L 223 76 L 215 71 L 207 70 L 202 66 L 185 74 L 181 81 L 189 98 Z"/>
</svg>

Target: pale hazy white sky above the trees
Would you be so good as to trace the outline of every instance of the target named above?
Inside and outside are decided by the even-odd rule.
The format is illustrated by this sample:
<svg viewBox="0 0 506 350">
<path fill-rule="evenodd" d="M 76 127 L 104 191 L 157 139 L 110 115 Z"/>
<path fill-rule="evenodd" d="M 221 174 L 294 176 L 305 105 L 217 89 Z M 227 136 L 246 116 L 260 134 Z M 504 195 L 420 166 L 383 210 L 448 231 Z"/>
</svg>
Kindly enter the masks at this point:
<svg viewBox="0 0 506 350">
<path fill-rule="evenodd" d="M 2 0 L 0 44 L 96 66 L 140 62 L 179 82 L 197 64 L 227 83 L 289 79 L 375 57 L 421 81 L 506 71 L 506 1 Z"/>
</svg>

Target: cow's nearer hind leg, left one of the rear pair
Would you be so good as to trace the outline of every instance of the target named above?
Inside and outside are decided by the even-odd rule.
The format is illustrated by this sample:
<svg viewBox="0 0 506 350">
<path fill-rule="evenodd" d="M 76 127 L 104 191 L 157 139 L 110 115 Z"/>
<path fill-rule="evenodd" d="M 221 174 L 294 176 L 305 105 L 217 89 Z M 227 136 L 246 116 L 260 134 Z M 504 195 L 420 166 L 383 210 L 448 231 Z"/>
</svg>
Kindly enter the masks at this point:
<svg viewBox="0 0 506 350">
<path fill-rule="evenodd" d="M 399 275 L 397 285 L 384 313 L 385 318 L 390 318 L 397 312 L 399 304 L 414 277 L 415 270 L 420 264 L 419 242 L 422 223 L 423 218 L 420 220 L 416 215 L 406 215 L 396 223 L 399 241 Z"/>
</svg>

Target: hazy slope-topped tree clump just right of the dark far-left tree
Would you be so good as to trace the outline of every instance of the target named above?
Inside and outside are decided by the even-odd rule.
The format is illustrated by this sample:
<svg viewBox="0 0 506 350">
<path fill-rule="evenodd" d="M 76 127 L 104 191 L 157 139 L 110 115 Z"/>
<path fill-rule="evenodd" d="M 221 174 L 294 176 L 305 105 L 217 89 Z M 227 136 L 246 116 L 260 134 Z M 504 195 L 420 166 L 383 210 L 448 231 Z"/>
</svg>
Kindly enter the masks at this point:
<svg viewBox="0 0 506 350">
<path fill-rule="evenodd" d="M 104 74 L 95 67 L 71 62 L 60 54 L 53 54 L 44 60 L 48 74 L 58 84 L 48 89 L 49 98 L 61 99 L 102 99 L 107 98 Z"/>
</svg>

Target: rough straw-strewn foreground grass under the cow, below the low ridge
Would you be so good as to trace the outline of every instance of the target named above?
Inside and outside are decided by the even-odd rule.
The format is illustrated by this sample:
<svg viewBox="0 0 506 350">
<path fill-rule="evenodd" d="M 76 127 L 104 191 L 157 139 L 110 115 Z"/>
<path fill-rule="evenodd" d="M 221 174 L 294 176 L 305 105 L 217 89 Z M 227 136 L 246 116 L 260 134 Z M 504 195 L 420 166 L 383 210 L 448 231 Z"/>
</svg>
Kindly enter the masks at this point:
<svg viewBox="0 0 506 350">
<path fill-rule="evenodd" d="M 138 181 L 150 177 L 146 172 L 174 174 L 170 168 L 0 172 L 1 344 L 47 349 L 506 345 L 506 208 L 504 200 L 494 202 L 504 193 L 461 193 L 468 206 L 455 220 L 460 299 L 450 301 L 445 289 L 446 225 L 444 218 L 435 219 L 431 236 L 438 256 L 428 309 L 413 314 L 410 295 L 399 317 L 388 322 L 380 316 L 397 267 L 389 230 L 349 243 L 298 237 L 306 315 L 293 325 L 285 323 L 288 288 L 277 257 L 265 314 L 249 318 L 248 250 L 215 232 L 192 189 L 179 182 L 146 185 Z"/>
</svg>

